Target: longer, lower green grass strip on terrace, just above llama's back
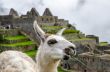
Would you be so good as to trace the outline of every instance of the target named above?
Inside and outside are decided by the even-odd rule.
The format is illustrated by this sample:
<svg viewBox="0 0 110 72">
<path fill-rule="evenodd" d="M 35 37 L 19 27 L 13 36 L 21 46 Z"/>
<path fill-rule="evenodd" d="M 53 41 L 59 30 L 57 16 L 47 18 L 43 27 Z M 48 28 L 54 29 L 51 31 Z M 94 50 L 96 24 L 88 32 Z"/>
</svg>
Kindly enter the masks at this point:
<svg viewBox="0 0 110 72">
<path fill-rule="evenodd" d="M 32 45 L 35 44 L 32 41 L 27 42 L 20 42 L 20 43 L 14 43 L 14 44 L 0 44 L 1 46 L 8 46 L 8 47 L 16 47 L 16 46 L 26 46 L 26 45 Z"/>
</svg>

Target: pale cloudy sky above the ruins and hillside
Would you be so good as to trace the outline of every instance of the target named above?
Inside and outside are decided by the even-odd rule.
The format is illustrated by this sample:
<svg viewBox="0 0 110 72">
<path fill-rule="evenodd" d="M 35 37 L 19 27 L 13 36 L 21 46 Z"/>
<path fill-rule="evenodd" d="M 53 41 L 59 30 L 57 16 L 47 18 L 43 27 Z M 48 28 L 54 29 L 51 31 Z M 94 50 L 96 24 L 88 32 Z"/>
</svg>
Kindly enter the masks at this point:
<svg viewBox="0 0 110 72">
<path fill-rule="evenodd" d="M 0 14 L 8 14 L 10 8 L 25 14 L 32 7 L 40 15 L 48 7 L 53 15 L 69 20 L 83 33 L 110 42 L 110 0 L 0 0 Z"/>
</svg>

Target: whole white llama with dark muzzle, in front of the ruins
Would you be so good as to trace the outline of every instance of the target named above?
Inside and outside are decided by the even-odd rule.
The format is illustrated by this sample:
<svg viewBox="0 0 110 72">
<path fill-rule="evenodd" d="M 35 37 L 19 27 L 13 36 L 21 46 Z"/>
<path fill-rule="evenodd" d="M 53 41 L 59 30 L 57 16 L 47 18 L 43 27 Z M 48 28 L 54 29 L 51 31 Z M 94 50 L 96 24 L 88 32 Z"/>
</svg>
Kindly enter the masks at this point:
<svg viewBox="0 0 110 72">
<path fill-rule="evenodd" d="M 0 54 L 0 72 L 58 72 L 62 59 L 68 60 L 69 53 L 76 54 L 75 45 L 64 37 L 61 29 L 55 35 L 47 35 L 34 21 L 36 37 L 40 40 L 36 62 L 19 51 L 4 51 Z"/>
</svg>

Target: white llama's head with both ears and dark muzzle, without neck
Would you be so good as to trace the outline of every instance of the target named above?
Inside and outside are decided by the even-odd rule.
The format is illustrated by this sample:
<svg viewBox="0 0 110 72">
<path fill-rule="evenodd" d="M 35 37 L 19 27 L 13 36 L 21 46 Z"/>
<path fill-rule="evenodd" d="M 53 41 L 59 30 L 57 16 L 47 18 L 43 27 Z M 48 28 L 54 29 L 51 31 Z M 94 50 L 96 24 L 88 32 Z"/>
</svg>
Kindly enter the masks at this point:
<svg viewBox="0 0 110 72">
<path fill-rule="evenodd" d="M 75 45 L 62 36 L 65 28 L 58 31 L 55 35 L 46 35 L 35 21 L 34 30 L 40 40 L 39 52 L 42 53 L 43 57 L 53 60 L 67 60 L 70 53 L 76 54 Z"/>
</svg>

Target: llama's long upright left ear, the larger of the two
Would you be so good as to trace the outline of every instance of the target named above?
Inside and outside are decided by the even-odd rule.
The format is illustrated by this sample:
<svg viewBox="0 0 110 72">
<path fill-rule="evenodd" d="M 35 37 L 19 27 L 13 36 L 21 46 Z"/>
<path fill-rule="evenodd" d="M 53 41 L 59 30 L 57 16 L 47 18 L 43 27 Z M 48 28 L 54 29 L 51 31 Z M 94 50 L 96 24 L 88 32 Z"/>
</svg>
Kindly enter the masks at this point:
<svg viewBox="0 0 110 72">
<path fill-rule="evenodd" d="M 35 33 L 37 35 L 37 38 L 40 40 L 40 42 L 44 42 L 45 41 L 45 32 L 40 28 L 37 21 L 34 21 L 33 27 L 34 27 Z"/>
</svg>

